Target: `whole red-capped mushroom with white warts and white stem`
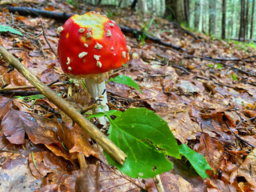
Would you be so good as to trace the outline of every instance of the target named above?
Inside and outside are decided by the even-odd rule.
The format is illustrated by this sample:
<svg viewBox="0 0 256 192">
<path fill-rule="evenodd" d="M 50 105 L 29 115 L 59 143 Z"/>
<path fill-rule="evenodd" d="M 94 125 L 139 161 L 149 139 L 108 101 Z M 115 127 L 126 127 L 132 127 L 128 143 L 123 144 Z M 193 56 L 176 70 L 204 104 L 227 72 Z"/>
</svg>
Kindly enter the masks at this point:
<svg viewBox="0 0 256 192">
<path fill-rule="evenodd" d="M 114 21 L 94 11 L 72 16 L 58 27 L 58 32 L 58 58 L 62 70 L 70 78 L 85 79 L 91 97 L 104 111 L 109 110 L 106 105 L 107 72 L 129 60 L 130 46 L 126 46 L 124 34 Z M 106 126 L 104 119 L 100 118 L 99 122 Z"/>
</svg>

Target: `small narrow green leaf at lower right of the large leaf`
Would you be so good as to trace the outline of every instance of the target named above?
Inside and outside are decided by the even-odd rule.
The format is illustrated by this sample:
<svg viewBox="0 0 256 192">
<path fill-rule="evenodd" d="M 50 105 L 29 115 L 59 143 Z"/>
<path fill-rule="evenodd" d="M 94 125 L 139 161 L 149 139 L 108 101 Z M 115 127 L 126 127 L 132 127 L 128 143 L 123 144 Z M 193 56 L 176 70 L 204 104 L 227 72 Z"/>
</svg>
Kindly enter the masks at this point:
<svg viewBox="0 0 256 192">
<path fill-rule="evenodd" d="M 202 154 L 198 154 L 194 150 L 191 150 L 190 147 L 185 144 L 179 146 L 179 152 L 189 160 L 190 164 L 194 167 L 194 170 L 197 171 L 202 178 L 209 178 L 209 175 L 206 174 L 206 170 L 213 169 Z"/>
</svg>

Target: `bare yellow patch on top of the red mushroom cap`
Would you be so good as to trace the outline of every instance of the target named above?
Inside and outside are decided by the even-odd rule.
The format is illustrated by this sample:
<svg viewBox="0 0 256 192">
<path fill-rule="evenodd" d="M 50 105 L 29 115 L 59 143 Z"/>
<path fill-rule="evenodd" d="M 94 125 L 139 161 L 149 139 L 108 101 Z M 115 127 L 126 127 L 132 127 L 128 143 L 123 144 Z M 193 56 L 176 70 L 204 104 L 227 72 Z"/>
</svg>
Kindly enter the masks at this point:
<svg viewBox="0 0 256 192">
<path fill-rule="evenodd" d="M 80 27 L 91 28 L 94 39 L 101 39 L 103 37 L 104 23 L 109 21 L 108 18 L 91 12 L 83 15 L 74 15 L 72 19 Z"/>
</svg>

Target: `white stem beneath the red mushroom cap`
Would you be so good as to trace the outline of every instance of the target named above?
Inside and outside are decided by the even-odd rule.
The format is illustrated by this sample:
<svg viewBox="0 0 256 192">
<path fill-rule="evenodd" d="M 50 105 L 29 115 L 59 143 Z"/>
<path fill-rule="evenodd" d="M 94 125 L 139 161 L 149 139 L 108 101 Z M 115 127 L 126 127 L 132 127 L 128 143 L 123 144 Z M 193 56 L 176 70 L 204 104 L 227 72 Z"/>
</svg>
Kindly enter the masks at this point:
<svg viewBox="0 0 256 192">
<path fill-rule="evenodd" d="M 99 107 L 95 110 L 95 112 L 98 113 L 110 110 L 109 106 L 107 106 L 106 82 L 97 82 L 96 80 L 89 78 L 85 80 L 85 84 L 91 98 L 94 98 L 98 103 Z M 106 122 L 108 122 L 108 119 L 103 116 L 98 118 L 98 122 L 102 124 L 103 127 L 106 127 Z"/>
</svg>

